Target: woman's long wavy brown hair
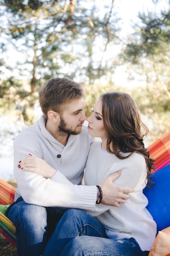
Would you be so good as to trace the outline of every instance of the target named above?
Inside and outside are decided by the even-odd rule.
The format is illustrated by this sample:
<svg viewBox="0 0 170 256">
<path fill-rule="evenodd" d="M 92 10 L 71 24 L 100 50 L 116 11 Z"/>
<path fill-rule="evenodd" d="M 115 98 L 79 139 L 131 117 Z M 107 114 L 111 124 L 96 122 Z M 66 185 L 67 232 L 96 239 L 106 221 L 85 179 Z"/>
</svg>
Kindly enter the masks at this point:
<svg viewBox="0 0 170 256">
<path fill-rule="evenodd" d="M 107 133 L 107 151 L 119 159 L 127 158 L 137 152 L 145 157 L 147 165 L 147 186 L 153 184 L 150 175 L 154 169 L 154 159 L 149 157 L 144 147 L 144 138 L 148 128 L 142 122 L 140 111 L 133 98 L 124 92 L 109 92 L 100 96 L 102 100 L 102 117 Z M 141 131 L 143 128 L 143 132 Z M 130 154 L 126 157 L 121 152 Z"/>
</svg>

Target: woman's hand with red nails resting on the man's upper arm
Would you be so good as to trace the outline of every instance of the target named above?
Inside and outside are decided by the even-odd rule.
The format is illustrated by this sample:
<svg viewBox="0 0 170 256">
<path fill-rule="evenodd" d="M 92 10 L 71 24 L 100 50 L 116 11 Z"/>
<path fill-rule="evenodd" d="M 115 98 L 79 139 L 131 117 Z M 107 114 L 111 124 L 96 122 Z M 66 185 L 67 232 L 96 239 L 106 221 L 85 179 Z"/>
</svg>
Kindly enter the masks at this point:
<svg viewBox="0 0 170 256">
<path fill-rule="evenodd" d="M 33 157 L 30 154 L 19 162 L 18 168 L 21 168 L 23 171 L 37 173 L 38 175 L 42 175 L 44 178 L 52 178 L 57 172 L 47 164 L 46 161 L 39 157 Z"/>
</svg>

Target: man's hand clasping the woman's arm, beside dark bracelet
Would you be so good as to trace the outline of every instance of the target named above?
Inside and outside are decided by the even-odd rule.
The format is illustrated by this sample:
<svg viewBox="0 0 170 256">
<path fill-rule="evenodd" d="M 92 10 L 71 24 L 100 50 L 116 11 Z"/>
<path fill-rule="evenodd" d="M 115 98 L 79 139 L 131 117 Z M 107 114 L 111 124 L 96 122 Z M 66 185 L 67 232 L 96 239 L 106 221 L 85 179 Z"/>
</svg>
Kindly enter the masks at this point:
<svg viewBox="0 0 170 256">
<path fill-rule="evenodd" d="M 133 189 L 118 186 L 113 183 L 121 174 L 121 171 L 111 174 L 101 184 L 102 189 L 102 204 L 112 205 L 119 207 L 120 204 L 124 204 L 129 199 L 129 193 L 133 192 Z"/>
</svg>

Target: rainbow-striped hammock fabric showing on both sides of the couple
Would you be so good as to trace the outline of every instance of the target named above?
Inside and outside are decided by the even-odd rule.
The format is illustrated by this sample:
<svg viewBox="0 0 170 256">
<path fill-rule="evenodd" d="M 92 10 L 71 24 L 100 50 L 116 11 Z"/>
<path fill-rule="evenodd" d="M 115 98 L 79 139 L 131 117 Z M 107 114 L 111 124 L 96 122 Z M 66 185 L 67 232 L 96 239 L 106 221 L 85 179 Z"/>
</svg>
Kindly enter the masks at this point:
<svg viewBox="0 0 170 256">
<path fill-rule="evenodd" d="M 170 132 L 157 139 L 148 147 L 150 157 L 155 158 L 155 172 L 170 164 Z M 0 179 L 0 232 L 16 246 L 15 226 L 5 216 L 6 205 L 14 200 L 15 188 Z"/>
</svg>

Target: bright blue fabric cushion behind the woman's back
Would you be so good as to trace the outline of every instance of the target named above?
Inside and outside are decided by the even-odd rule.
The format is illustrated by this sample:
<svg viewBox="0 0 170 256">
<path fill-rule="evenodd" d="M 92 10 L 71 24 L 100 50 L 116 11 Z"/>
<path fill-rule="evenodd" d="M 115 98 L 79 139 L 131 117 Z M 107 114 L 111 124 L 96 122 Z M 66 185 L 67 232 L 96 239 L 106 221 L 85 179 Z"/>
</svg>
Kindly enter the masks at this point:
<svg viewBox="0 0 170 256">
<path fill-rule="evenodd" d="M 170 164 L 153 173 L 155 185 L 144 189 L 147 209 L 157 223 L 157 232 L 170 226 Z"/>
</svg>

